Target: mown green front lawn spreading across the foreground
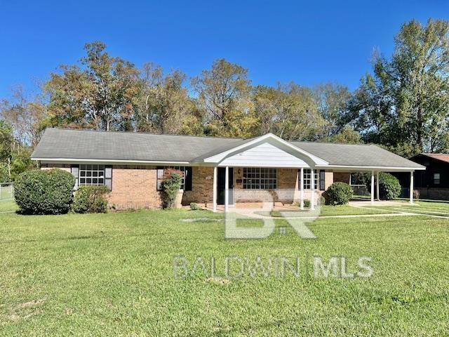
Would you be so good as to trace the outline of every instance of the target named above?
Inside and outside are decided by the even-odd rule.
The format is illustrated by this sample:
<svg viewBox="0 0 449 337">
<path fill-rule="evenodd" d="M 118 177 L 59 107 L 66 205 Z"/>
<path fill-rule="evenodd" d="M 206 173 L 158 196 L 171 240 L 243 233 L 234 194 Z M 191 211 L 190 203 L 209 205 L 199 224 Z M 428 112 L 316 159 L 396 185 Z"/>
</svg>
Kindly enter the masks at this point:
<svg viewBox="0 0 449 337">
<path fill-rule="evenodd" d="M 1 336 L 443 336 L 449 331 L 449 220 L 321 218 L 304 240 L 226 240 L 208 211 L 0 214 Z M 277 220 L 278 226 L 286 225 Z M 175 279 L 173 259 L 286 256 L 300 277 Z M 311 258 L 345 256 L 372 277 L 314 278 Z M 207 262 L 207 261 L 206 261 Z M 210 263 L 206 264 L 210 267 Z"/>
</svg>

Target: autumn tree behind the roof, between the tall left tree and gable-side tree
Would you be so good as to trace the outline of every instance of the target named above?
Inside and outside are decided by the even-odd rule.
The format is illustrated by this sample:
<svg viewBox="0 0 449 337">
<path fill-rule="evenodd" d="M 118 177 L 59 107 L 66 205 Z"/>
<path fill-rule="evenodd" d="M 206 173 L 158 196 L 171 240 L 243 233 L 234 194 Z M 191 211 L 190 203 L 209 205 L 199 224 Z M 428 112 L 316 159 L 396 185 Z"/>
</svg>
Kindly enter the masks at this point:
<svg viewBox="0 0 449 337">
<path fill-rule="evenodd" d="M 138 131 L 203 133 L 203 117 L 183 86 L 184 73 L 175 70 L 164 75 L 161 67 L 147 63 L 142 75 L 140 108 L 135 114 Z"/>
</svg>

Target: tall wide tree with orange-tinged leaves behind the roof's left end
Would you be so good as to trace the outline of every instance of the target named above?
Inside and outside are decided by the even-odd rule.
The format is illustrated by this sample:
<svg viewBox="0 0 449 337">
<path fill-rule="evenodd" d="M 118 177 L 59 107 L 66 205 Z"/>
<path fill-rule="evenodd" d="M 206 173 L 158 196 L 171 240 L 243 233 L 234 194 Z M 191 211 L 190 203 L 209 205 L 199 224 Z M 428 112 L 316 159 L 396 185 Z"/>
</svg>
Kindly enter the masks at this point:
<svg viewBox="0 0 449 337">
<path fill-rule="evenodd" d="M 81 67 L 60 67 L 46 83 L 48 123 L 97 130 L 133 129 L 141 81 L 138 69 L 112 57 L 100 41 L 85 45 Z"/>
</svg>

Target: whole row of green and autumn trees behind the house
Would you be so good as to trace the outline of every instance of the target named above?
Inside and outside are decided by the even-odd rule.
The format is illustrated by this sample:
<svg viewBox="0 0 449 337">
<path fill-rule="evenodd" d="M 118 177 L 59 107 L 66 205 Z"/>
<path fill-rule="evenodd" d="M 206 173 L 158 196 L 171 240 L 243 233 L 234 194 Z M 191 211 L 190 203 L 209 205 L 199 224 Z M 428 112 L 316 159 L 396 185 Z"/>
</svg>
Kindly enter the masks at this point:
<svg viewBox="0 0 449 337">
<path fill-rule="evenodd" d="M 245 67 L 224 59 L 188 78 L 152 63 L 140 69 L 102 42 L 88 43 L 79 63 L 51 73 L 37 98 L 18 89 L 1 101 L 0 141 L 12 137 L 13 145 L 0 145 L 0 161 L 13 161 L 13 147 L 36 145 L 48 126 L 244 138 L 272 132 L 376 143 L 403 156 L 448 152 L 448 32 L 446 20 L 406 22 L 394 53 L 375 53 L 353 92 L 333 83 L 254 85 Z"/>
</svg>

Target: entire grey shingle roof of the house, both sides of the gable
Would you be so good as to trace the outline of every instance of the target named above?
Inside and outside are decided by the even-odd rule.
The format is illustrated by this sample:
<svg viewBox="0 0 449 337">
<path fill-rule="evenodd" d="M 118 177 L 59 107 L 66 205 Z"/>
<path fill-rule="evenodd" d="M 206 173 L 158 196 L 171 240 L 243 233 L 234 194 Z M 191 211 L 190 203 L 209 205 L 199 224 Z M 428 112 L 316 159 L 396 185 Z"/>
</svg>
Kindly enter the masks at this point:
<svg viewBox="0 0 449 337">
<path fill-rule="evenodd" d="M 198 162 L 250 140 L 47 128 L 32 158 Z M 330 165 L 423 167 L 375 145 L 290 143 L 328 161 Z"/>
</svg>

